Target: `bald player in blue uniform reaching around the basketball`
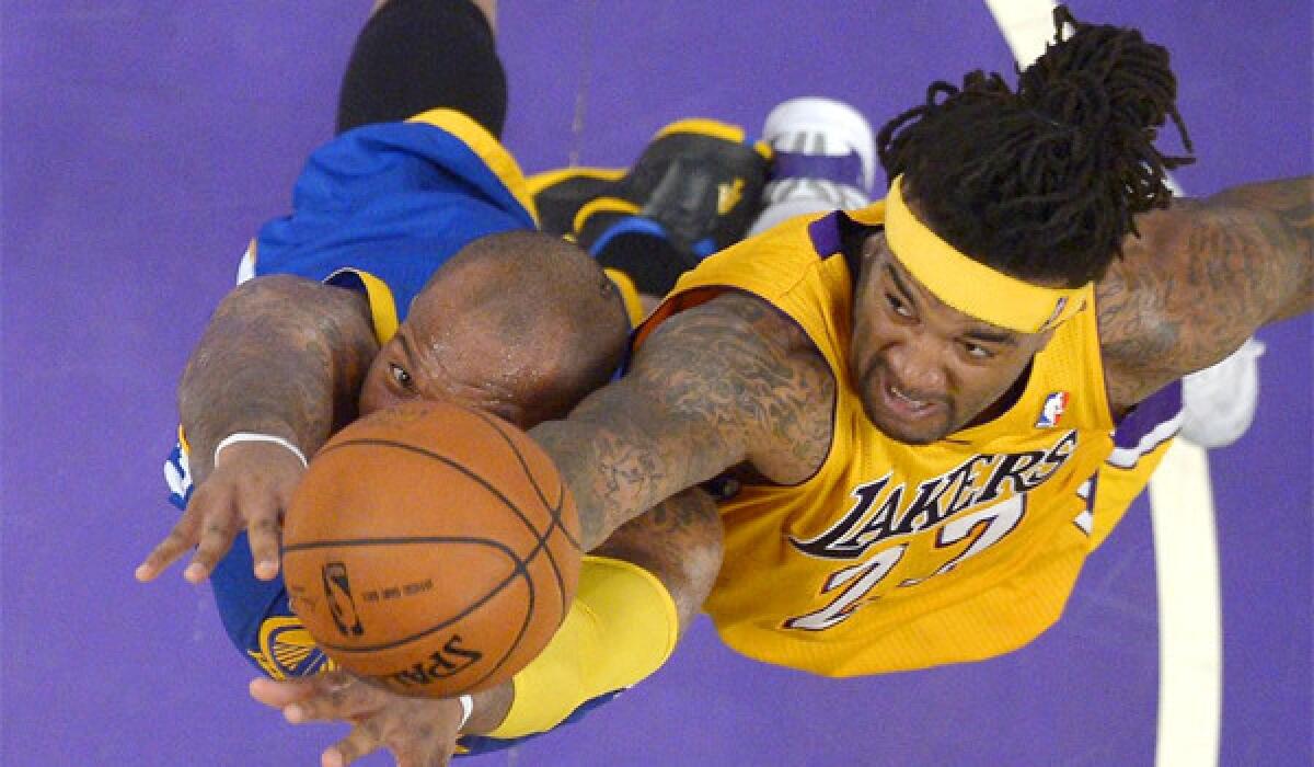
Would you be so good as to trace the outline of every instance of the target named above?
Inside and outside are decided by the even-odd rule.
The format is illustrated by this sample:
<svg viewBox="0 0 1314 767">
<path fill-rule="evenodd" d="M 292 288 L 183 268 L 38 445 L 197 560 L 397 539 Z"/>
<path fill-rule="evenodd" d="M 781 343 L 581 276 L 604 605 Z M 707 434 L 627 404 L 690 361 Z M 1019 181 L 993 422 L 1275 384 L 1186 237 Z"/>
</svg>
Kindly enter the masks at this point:
<svg viewBox="0 0 1314 767">
<path fill-rule="evenodd" d="M 376 5 L 343 80 L 339 136 L 307 162 L 293 213 L 251 242 L 179 387 L 168 472 L 185 512 L 138 578 L 196 546 L 187 578 L 213 575 L 226 629 L 271 676 L 326 667 L 277 578 L 277 520 L 306 455 L 357 412 L 411 397 L 455 399 L 524 428 L 564 417 L 618 368 L 635 293 L 665 292 L 740 237 L 757 208 L 767 153 L 711 121 L 662 130 L 631 174 L 527 183 L 497 139 L 506 105 L 491 16 L 487 0 Z M 594 204 L 581 213 L 585 200 Z M 495 739 L 465 741 L 478 751 L 607 700 L 665 660 L 719 560 L 706 495 L 656 505 L 586 560 L 557 653 L 598 630 L 636 639 L 619 666 L 581 670 L 578 699 L 533 708 L 523 684 L 505 685 L 481 696 L 474 717 L 469 699 L 389 701 L 384 716 L 357 709 L 336 758 L 380 745 L 405 759 L 448 753 L 447 741 L 380 737 L 417 706 L 465 733 L 497 726 Z M 631 620 L 639 605 L 652 609 Z"/>
</svg>

